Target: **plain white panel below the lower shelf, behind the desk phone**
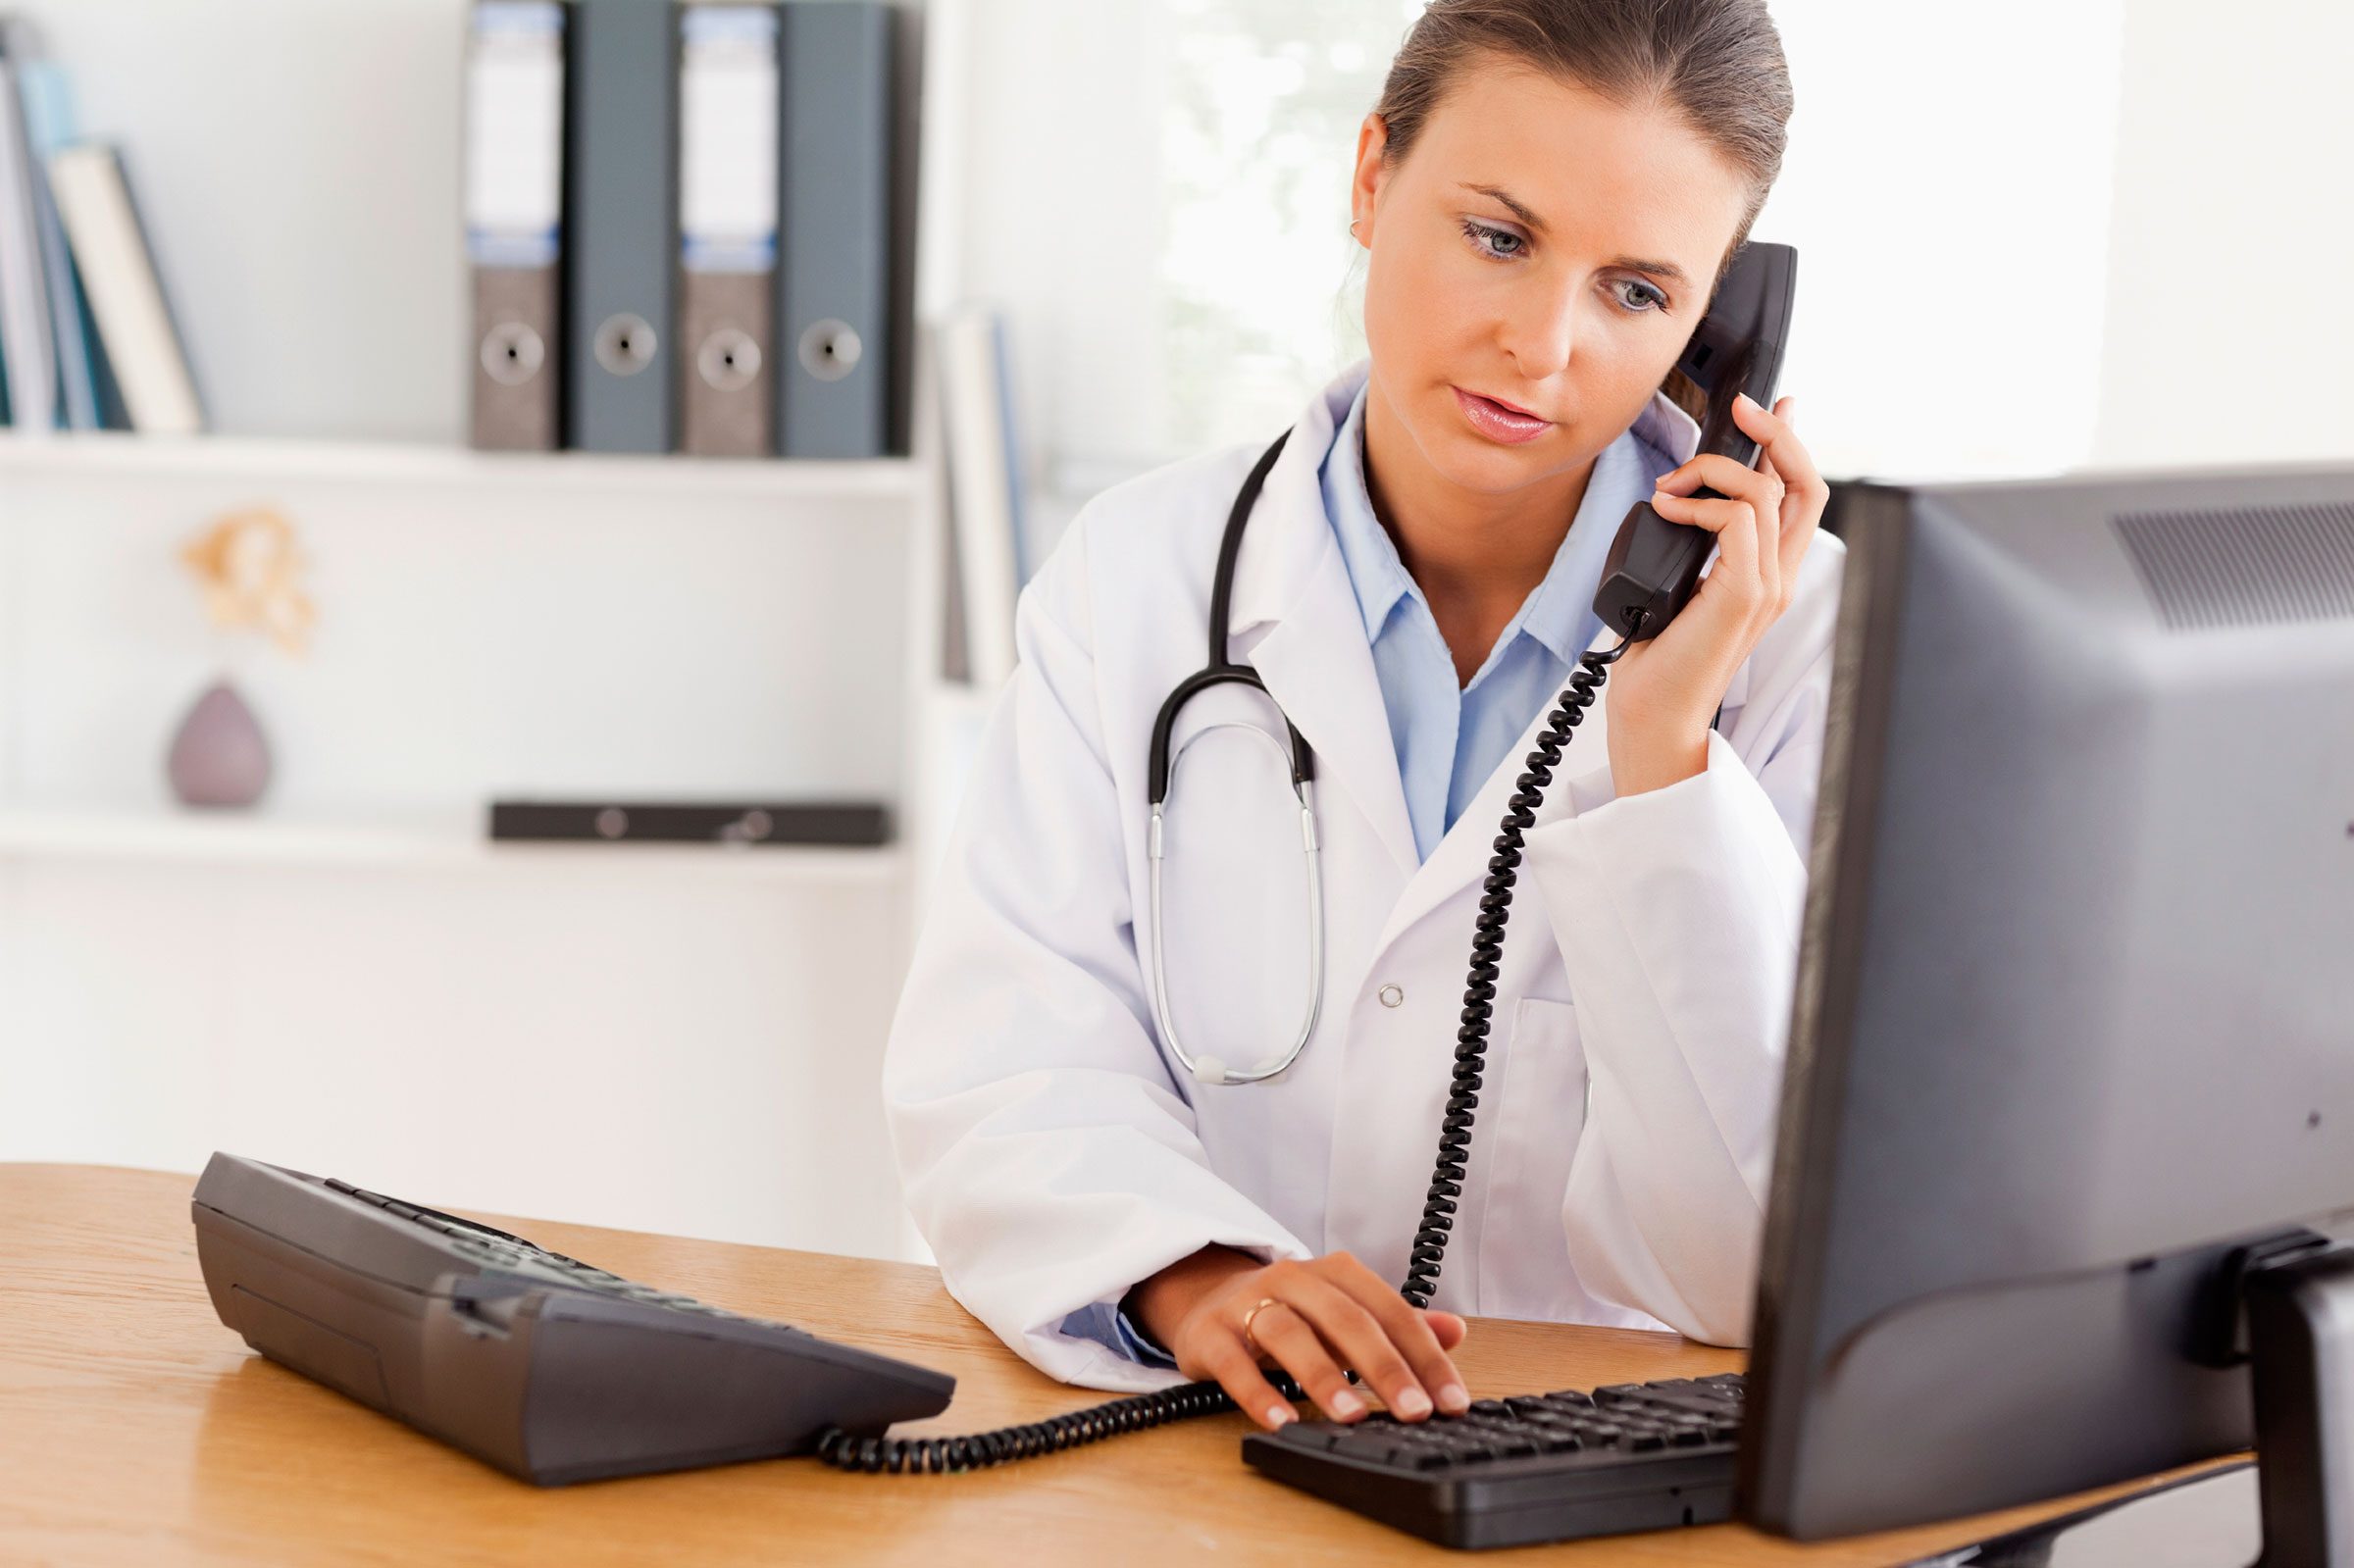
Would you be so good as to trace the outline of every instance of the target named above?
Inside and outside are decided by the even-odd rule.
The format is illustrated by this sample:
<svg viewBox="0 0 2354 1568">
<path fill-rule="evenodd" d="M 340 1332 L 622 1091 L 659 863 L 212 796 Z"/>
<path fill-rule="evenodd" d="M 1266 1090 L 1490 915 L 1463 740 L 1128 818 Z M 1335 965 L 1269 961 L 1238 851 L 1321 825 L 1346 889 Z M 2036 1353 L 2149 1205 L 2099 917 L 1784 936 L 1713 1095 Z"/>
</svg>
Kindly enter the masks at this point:
<svg viewBox="0 0 2354 1568">
<path fill-rule="evenodd" d="M 607 855 L 0 857 L 0 1158 L 909 1255 L 899 878 Z"/>
</svg>

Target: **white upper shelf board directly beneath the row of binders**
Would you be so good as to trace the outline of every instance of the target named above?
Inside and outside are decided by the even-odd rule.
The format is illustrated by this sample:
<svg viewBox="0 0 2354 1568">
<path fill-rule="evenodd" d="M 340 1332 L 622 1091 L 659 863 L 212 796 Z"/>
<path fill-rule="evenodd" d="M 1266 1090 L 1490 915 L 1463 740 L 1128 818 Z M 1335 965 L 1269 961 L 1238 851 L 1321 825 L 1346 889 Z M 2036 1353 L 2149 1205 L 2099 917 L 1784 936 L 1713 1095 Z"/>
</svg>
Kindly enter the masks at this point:
<svg viewBox="0 0 2354 1568">
<path fill-rule="evenodd" d="M 355 480 L 450 487 L 586 487 L 661 492 L 680 499 L 746 494 L 793 499 L 892 499 L 916 494 L 923 469 L 909 457 L 873 461 L 624 457 L 607 452 L 476 452 L 424 440 L 273 436 L 137 436 L 75 431 L 0 433 L 0 494 L 12 476 L 221 476 Z"/>
</svg>

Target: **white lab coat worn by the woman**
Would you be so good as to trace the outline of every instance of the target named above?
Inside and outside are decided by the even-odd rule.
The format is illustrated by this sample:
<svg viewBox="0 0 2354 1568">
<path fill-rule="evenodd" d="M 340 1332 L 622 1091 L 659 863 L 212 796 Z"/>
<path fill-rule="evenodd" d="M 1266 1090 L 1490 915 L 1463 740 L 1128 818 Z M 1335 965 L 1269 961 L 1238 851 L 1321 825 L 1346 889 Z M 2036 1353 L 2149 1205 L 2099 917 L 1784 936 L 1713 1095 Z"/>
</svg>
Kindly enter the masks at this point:
<svg viewBox="0 0 2354 1568">
<path fill-rule="evenodd" d="M 920 925 L 883 1064 L 906 1201 L 949 1293 L 1066 1382 L 1184 1382 L 1064 1323 L 1092 1307 L 1109 1326 L 1208 1243 L 1405 1276 L 1481 883 L 1542 716 L 1417 864 L 1316 480 L 1363 374 L 1309 400 L 1269 471 L 1231 612 L 1233 657 L 1316 749 L 1325 998 L 1299 1059 L 1193 1081 L 1161 1048 L 1146 958 L 1151 725 L 1205 659 L 1219 534 L 1264 443 L 1113 485 L 1024 586 L 1019 664 Z M 1655 407 L 1690 457 L 1697 426 Z M 1587 709 L 1525 836 L 1434 1307 L 1747 1342 L 1843 556 L 1810 544 L 1702 775 L 1615 798 L 1608 697 Z M 1276 749 L 1203 735 L 1217 720 L 1283 735 L 1233 685 L 1177 725 L 1170 1005 L 1189 1050 L 1248 1064 L 1304 1015 L 1306 888 Z"/>
</svg>

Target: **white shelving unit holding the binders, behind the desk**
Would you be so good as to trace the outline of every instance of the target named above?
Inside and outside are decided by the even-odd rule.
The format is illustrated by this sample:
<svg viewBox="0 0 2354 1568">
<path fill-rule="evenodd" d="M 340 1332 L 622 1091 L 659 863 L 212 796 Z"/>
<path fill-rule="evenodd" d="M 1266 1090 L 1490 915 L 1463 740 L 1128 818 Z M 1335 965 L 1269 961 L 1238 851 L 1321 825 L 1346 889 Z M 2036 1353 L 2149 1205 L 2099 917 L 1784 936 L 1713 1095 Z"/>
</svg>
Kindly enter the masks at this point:
<svg viewBox="0 0 2354 1568">
<path fill-rule="evenodd" d="M 965 0 L 895 0 L 916 410 L 876 461 L 466 450 L 466 2 L 271 7 L 266 59 L 238 2 L 24 7 L 129 148 L 224 433 L 0 433 L 0 1158 L 219 1147 L 923 1257 L 878 1071 L 944 732 L 989 702 L 935 673 Z M 384 104 L 419 137 L 353 179 Z M 271 793 L 186 810 L 162 753 L 224 645 L 177 549 L 250 504 L 297 525 L 320 619 L 304 659 L 231 659 Z M 885 798 L 897 838 L 487 843 L 490 796 L 527 793 Z"/>
</svg>

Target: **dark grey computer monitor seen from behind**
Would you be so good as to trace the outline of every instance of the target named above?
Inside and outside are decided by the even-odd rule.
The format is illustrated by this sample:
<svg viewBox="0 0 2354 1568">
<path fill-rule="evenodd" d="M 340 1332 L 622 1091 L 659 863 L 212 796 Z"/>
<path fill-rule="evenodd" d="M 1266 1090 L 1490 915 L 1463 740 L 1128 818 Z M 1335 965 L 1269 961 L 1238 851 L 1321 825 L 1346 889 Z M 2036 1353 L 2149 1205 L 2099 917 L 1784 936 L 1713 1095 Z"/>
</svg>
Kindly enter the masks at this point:
<svg viewBox="0 0 2354 1568">
<path fill-rule="evenodd" d="M 2354 469 L 1853 483 L 1827 527 L 1740 1509 L 2246 1448 L 2225 1264 L 2354 1210 Z"/>
</svg>

